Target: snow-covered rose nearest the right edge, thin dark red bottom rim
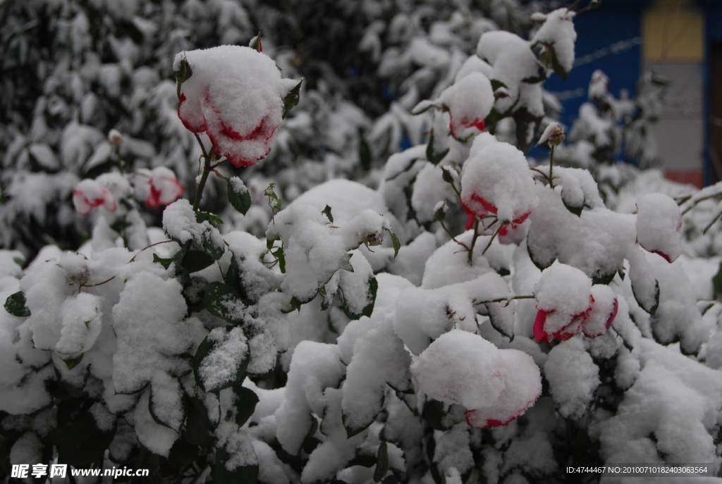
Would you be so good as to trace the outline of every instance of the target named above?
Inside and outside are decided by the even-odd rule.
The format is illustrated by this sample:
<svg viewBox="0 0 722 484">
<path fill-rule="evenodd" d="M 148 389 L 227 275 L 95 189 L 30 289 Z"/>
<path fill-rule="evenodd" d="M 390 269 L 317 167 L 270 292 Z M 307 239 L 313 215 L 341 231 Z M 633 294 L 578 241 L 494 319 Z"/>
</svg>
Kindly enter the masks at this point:
<svg viewBox="0 0 722 484">
<path fill-rule="evenodd" d="M 674 262 L 682 253 L 682 211 L 677 202 L 661 193 L 637 201 L 637 241 L 643 249 Z"/>
</svg>

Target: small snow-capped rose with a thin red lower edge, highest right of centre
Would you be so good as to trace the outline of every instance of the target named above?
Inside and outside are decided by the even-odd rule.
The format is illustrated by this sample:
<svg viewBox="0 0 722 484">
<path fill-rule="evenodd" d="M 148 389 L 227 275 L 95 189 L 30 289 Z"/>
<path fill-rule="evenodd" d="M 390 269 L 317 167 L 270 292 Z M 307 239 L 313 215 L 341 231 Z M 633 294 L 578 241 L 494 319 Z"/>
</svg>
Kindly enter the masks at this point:
<svg viewBox="0 0 722 484">
<path fill-rule="evenodd" d="M 451 134 L 459 138 L 471 126 L 484 131 L 485 119 L 494 106 L 494 91 L 487 76 L 471 72 L 444 89 L 438 102 L 448 109 Z"/>
</svg>

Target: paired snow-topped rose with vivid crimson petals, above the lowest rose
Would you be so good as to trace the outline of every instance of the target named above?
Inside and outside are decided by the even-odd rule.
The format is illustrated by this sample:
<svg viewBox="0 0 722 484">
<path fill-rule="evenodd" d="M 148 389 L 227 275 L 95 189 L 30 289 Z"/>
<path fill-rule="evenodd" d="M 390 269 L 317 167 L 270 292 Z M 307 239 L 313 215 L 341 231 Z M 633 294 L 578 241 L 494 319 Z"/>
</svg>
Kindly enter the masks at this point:
<svg viewBox="0 0 722 484">
<path fill-rule="evenodd" d="M 571 265 L 557 264 L 544 271 L 534 286 L 534 338 L 551 343 L 584 333 L 596 338 L 606 333 L 617 316 L 617 295 L 609 286 L 594 284 Z"/>
</svg>

